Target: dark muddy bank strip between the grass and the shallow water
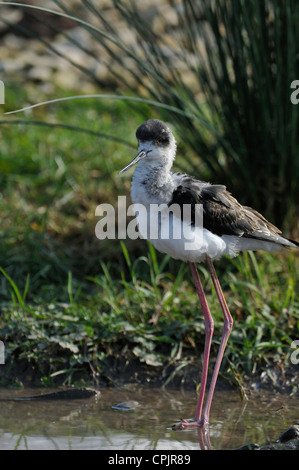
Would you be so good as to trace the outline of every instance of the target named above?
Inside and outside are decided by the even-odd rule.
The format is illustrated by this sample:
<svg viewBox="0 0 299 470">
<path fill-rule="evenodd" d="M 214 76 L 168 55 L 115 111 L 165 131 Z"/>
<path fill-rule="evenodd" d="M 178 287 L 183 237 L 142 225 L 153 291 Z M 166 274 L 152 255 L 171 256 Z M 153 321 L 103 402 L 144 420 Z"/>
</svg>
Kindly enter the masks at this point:
<svg viewBox="0 0 299 470">
<path fill-rule="evenodd" d="M 210 368 L 210 373 L 212 371 Z M 110 360 L 102 372 L 93 370 L 74 371 L 73 384 L 81 384 L 96 389 L 106 387 L 171 387 L 193 390 L 200 382 L 201 362 L 193 363 L 179 369 L 178 364 L 166 367 L 151 367 L 140 361 L 117 358 Z M 61 386 L 65 375 L 51 377 L 46 368 L 37 368 L 25 359 L 7 363 L 0 368 L 0 386 L 5 387 L 41 387 Z M 283 363 L 272 363 L 261 367 L 252 375 L 236 372 L 223 372 L 217 381 L 218 390 L 238 389 L 243 399 L 261 391 L 273 394 L 283 393 L 295 395 L 298 391 L 299 368 L 286 366 Z"/>
</svg>

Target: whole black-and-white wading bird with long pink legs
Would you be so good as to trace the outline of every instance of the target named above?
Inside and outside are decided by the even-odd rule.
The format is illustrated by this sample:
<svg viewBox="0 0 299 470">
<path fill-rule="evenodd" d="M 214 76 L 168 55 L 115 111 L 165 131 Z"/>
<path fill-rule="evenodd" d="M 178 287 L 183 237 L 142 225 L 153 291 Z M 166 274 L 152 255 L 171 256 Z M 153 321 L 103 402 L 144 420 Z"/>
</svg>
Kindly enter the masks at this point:
<svg viewBox="0 0 299 470">
<path fill-rule="evenodd" d="M 143 122 L 137 128 L 136 138 L 137 156 L 120 173 L 137 165 L 132 178 L 131 199 L 136 208 L 138 230 L 141 237 L 150 241 L 158 251 L 189 263 L 205 322 L 203 365 L 195 415 L 190 419 L 181 419 L 174 425 L 174 429 L 202 429 L 209 423 L 216 381 L 233 327 L 233 318 L 222 292 L 214 261 L 224 255 L 235 257 L 247 250 L 278 251 L 295 248 L 299 243 L 283 237 L 281 231 L 256 210 L 241 205 L 226 186 L 172 172 L 177 144 L 172 130 L 164 122 L 158 119 Z M 161 208 L 160 213 L 157 212 L 157 207 Z M 170 208 L 176 210 L 170 211 Z M 178 211 L 178 208 L 181 210 Z M 185 212 L 189 217 L 184 218 L 186 208 L 188 211 Z M 167 230 L 164 230 L 167 222 Z M 206 400 L 214 320 L 196 266 L 202 262 L 207 264 L 224 317 L 222 337 Z"/>
</svg>

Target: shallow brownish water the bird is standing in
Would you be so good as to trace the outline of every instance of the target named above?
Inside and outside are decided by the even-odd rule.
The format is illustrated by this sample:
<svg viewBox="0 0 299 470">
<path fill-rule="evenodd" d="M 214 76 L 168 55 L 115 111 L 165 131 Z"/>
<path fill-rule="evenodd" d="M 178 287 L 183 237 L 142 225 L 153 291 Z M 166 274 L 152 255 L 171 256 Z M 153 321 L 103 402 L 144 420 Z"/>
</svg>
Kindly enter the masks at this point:
<svg viewBox="0 0 299 470">
<path fill-rule="evenodd" d="M 46 392 L 0 389 L 0 399 Z M 128 400 L 140 406 L 131 411 L 112 408 Z M 0 449 L 236 449 L 273 441 L 299 420 L 298 397 L 263 393 L 242 402 L 235 391 L 219 391 L 212 405 L 209 444 L 196 429 L 169 429 L 180 418 L 192 417 L 195 405 L 194 392 L 161 389 L 104 389 L 84 400 L 1 401 Z"/>
</svg>

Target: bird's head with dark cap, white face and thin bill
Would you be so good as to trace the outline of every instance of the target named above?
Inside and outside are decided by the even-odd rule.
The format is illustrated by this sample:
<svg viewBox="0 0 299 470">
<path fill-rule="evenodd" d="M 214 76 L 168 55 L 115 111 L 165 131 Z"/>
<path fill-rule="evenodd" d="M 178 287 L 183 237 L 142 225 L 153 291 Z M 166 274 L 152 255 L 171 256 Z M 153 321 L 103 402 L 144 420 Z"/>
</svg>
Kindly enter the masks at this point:
<svg viewBox="0 0 299 470">
<path fill-rule="evenodd" d="M 138 154 L 120 173 L 138 162 L 151 167 L 171 168 L 176 153 L 176 142 L 171 130 L 158 119 L 145 121 L 136 131 Z"/>
</svg>

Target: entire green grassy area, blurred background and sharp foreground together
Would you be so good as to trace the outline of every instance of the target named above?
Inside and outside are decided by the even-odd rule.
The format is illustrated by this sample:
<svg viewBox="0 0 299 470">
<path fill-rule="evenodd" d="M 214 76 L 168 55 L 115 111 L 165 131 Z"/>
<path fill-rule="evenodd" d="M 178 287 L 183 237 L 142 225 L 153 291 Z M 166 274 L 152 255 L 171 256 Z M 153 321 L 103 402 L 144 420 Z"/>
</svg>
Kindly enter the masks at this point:
<svg viewBox="0 0 299 470">
<path fill-rule="evenodd" d="M 11 107 L 13 97 L 25 100 L 19 93 Z M 145 105 L 136 115 L 122 102 L 80 101 L 26 117 L 100 131 L 127 145 L 62 128 L 1 126 L 3 384 L 20 384 L 16 370 L 24 363 L 47 386 L 121 382 L 130 365 L 149 368 L 165 385 L 194 364 L 199 372 L 204 322 L 188 266 L 143 241 L 94 235 L 96 206 L 129 196 L 130 178 L 118 171 L 135 154 L 132 130 L 145 114 L 154 116 Z M 235 319 L 222 372 L 289 365 L 299 332 L 298 253 L 249 253 L 216 269 Z M 222 315 L 204 266 L 200 275 L 215 316 L 215 358 Z M 115 364 L 119 375 L 111 373 Z"/>
</svg>

